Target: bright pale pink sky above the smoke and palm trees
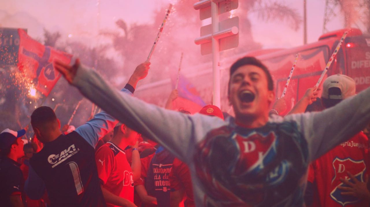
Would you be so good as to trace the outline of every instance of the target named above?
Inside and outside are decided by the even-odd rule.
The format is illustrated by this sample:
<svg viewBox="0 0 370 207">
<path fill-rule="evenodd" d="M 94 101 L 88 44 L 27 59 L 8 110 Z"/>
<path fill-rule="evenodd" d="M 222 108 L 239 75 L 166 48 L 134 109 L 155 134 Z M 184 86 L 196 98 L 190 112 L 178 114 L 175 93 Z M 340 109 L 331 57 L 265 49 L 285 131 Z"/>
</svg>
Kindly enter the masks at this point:
<svg viewBox="0 0 370 207">
<path fill-rule="evenodd" d="M 196 3 L 196 0 L 193 0 Z M 276 0 L 294 8 L 303 17 L 303 0 Z M 152 22 L 153 12 L 176 0 L 13 0 L 0 1 L 0 27 L 23 27 L 33 38 L 41 38 L 43 28 L 60 31 L 62 38 L 90 39 L 98 28 L 114 30 L 115 20 L 128 23 Z M 307 40 L 315 42 L 322 34 L 325 0 L 307 0 Z M 179 8 L 178 8 L 179 9 Z M 261 21 L 251 13 L 253 38 L 263 48 L 289 48 L 303 43 L 303 27 L 298 31 L 280 22 Z M 4 21 L 4 18 L 9 21 Z M 32 24 L 30 24 L 32 22 Z M 35 23 L 36 22 L 36 23 Z M 339 18 L 329 22 L 330 29 L 340 29 Z M 92 38 L 92 41 L 94 42 Z"/>
</svg>

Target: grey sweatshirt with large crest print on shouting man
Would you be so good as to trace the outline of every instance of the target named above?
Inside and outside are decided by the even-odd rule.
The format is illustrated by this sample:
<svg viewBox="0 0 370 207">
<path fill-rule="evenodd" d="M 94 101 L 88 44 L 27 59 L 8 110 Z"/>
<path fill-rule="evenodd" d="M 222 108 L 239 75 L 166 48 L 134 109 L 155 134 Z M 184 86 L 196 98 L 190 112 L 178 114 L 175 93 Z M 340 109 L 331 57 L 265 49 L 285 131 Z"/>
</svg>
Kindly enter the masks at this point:
<svg viewBox="0 0 370 207">
<path fill-rule="evenodd" d="M 188 164 L 196 206 L 303 206 L 307 165 L 362 130 L 370 89 L 322 112 L 272 116 L 247 129 L 229 117 L 185 115 L 121 93 L 80 67 L 81 93 Z"/>
</svg>

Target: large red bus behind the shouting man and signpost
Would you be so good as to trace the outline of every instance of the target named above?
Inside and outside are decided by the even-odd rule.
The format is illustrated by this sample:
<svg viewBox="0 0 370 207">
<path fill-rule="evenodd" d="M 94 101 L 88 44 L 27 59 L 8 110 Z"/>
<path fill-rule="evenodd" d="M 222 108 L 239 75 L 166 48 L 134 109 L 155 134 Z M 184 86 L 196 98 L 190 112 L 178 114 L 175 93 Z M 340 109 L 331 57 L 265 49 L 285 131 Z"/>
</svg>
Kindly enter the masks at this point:
<svg viewBox="0 0 370 207">
<path fill-rule="evenodd" d="M 302 58 L 297 62 L 285 95 L 287 107 L 288 109 L 291 108 L 302 98 L 307 88 L 316 84 L 329 57 L 344 31 L 347 30 L 341 29 L 324 34 L 320 36 L 317 42 L 295 48 L 258 50 L 221 59 L 221 109 L 233 114 L 227 99 L 228 69 L 238 58 L 255 56 L 262 60 L 272 73 L 275 81 L 276 97 L 280 97 L 295 56 L 300 53 Z M 197 67 L 197 70 L 199 72 L 188 74 L 186 77 L 196 86 L 200 97 L 206 103 L 211 103 L 212 63 L 201 64 Z M 356 81 L 357 92 L 370 86 L 370 35 L 362 34 L 359 29 L 350 29 L 326 77 L 338 73 L 352 77 Z M 147 102 L 164 106 L 170 92 L 171 83 L 169 79 L 166 79 L 138 87 L 135 96 Z"/>
</svg>

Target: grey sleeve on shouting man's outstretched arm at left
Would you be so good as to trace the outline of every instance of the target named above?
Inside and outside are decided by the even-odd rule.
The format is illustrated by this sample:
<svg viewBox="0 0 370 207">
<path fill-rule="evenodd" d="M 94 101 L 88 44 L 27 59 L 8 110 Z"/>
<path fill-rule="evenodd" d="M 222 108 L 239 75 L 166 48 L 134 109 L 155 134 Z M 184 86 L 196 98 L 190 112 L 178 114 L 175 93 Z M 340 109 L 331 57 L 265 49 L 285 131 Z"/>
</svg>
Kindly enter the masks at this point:
<svg viewBox="0 0 370 207">
<path fill-rule="evenodd" d="M 145 103 L 108 85 L 94 70 L 80 66 L 73 80 L 80 92 L 131 129 L 154 139 L 185 162 L 211 129 L 226 124 L 218 117 L 185 115 Z"/>
</svg>

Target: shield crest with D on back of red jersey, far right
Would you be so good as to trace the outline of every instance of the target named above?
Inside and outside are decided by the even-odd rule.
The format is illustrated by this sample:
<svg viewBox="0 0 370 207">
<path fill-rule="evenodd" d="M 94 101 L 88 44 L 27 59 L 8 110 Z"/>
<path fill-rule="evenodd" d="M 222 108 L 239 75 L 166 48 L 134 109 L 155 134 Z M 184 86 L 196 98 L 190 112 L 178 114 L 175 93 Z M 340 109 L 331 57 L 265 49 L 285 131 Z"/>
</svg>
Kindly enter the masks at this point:
<svg viewBox="0 0 370 207">
<path fill-rule="evenodd" d="M 339 159 L 335 158 L 333 160 L 333 168 L 334 168 L 334 178 L 332 179 L 332 186 L 335 186 L 330 193 L 330 197 L 335 200 L 337 203 L 340 203 L 342 206 L 346 206 L 350 203 L 356 203 L 359 201 L 358 198 L 353 196 L 343 196 L 340 193 L 343 190 L 338 189 L 339 186 L 342 187 L 349 187 L 346 184 L 340 181 L 340 178 L 349 179 L 347 175 L 347 171 L 349 171 L 353 176 L 356 177 L 357 180 L 364 182 L 364 173 L 366 171 L 366 165 L 363 160 L 354 161 L 351 158 L 346 159 Z M 353 182 L 349 179 L 350 182 Z"/>
</svg>

